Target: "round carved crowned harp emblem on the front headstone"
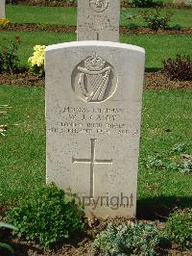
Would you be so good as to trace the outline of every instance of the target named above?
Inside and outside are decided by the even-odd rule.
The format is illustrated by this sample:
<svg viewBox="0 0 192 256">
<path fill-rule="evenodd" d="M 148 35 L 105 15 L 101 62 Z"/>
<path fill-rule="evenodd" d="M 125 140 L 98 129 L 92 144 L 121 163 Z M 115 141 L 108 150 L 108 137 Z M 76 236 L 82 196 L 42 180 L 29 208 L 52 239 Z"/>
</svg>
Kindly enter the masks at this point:
<svg viewBox="0 0 192 256">
<path fill-rule="evenodd" d="M 72 74 L 72 88 L 86 102 L 108 99 L 116 86 L 113 67 L 96 53 L 78 64 Z"/>
</svg>

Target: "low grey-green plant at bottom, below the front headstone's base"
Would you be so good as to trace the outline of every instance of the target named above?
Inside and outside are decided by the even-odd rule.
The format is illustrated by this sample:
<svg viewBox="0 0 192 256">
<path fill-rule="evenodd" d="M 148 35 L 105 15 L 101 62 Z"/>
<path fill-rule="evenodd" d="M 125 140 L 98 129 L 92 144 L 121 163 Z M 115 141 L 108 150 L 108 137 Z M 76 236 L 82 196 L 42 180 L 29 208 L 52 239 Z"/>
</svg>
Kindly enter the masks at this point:
<svg viewBox="0 0 192 256">
<path fill-rule="evenodd" d="M 156 247 L 164 240 L 154 223 L 129 223 L 121 226 L 108 225 L 92 243 L 92 253 L 108 256 L 156 254 Z"/>
</svg>

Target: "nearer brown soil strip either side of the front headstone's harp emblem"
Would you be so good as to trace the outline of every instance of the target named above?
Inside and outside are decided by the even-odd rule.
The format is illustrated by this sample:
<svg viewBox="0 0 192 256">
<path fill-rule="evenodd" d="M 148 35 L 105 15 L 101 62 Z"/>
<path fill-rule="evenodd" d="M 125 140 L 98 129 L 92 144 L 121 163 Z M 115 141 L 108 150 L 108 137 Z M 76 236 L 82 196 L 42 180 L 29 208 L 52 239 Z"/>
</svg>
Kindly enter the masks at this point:
<svg viewBox="0 0 192 256">
<path fill-rule="evenodd" d="M 23 70 L 15 74 L 1 73 L 0 85 L 44 87 L 45 79 Z M 192 90 L 192 81 L 171 81 L 160 71 L 146 72 L 144 87 L 146 90 Z"/>
</svg>

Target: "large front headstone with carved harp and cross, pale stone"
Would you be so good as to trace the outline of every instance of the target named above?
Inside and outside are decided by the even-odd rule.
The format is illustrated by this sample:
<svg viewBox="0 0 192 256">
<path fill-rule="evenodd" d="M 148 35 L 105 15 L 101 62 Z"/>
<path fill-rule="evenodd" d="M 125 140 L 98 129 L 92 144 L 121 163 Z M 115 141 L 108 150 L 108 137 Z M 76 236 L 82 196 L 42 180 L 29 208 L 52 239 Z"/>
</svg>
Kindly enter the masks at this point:
<svg viewBox="0 0 192 256">
<path fill-rule="evenodd" d="M 46 48 L 47 183 L 87 216 L 135 216 L 144 59 L 107 41 Z"/>
</svg>

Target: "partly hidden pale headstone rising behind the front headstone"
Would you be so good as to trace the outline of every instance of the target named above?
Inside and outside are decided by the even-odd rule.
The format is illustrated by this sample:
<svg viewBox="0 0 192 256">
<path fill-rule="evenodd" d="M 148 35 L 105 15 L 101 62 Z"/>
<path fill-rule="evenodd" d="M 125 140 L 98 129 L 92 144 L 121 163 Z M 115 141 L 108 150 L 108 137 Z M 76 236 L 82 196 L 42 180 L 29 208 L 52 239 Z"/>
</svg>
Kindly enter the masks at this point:
<svg viewBox="0 0 192 256">
<path fill-rule="evenodd" d="M 119 41 L 119 0 L 78 0 L 78 40 Z"/>
</svg>

